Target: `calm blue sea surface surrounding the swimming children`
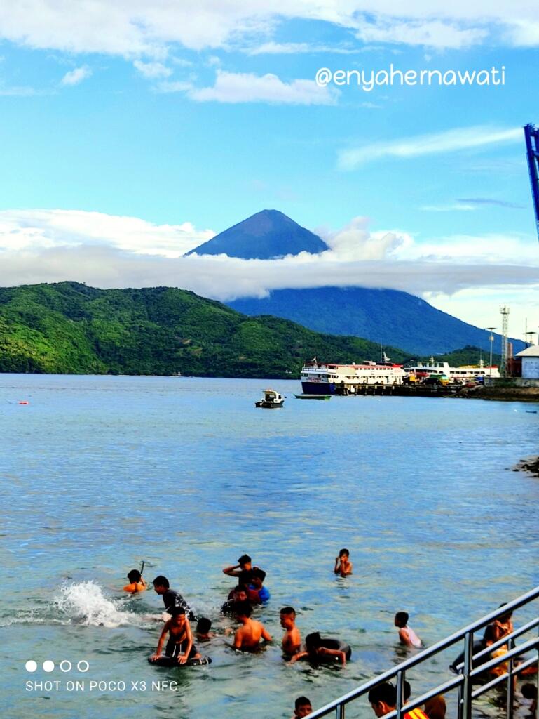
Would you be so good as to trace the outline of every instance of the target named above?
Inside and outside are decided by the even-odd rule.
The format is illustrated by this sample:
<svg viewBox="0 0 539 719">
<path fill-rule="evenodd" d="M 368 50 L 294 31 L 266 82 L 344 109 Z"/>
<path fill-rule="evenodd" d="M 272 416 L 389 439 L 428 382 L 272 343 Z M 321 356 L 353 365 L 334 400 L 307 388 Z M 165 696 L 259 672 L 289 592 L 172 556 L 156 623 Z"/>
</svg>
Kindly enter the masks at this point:
<svg viewBox="0 0 539 719">
<path fill-rule="evenodd" d="M 259 410 L 264 380 L 0 375 L 1 706 L 6 718 L 290 717 L 403 658 L 393 615 L 426 644 L 539 583 L 539 480 L 511 468 L 538 453 L 530 405 L 427 398 L 296 400 Z M 28 406 L 18 404 L 27 400 Z M 535 409 L 536 407 L 533 406 Z M 355 573 L 332 573 L 347 546 Z M 221 569 L 248 552 L 276 638 L 256 656 L 218 636 L 210 667 L 157 669 L 153 591 L 121 592 L 144 559 L 214 620 L 233 586 Z M 345 639 L 345 669 L 281 659 L 278 609 Z M 526 617 L 525 610 L 517 619 Z M 413 695 L 449 678 L 439 659 L 411 673 Z M 84 659 L 85 674 L 24 669 Z M 67 680 L 84 691 L 67 691 Z M 25 682 L 59 680 L 59 690 Z M 90 681 L 126 682 L 90 691 Z M 151 691 L 175 680 L 177 691 Z M 131 681 L 146 691 L 131 691 Z M 480 711 L 495 716 L 483 700 Z M 347 716 L 372 717 L 366 700 Z M 449 713 L 448 713 L 449 716 Z"/>
</svg>

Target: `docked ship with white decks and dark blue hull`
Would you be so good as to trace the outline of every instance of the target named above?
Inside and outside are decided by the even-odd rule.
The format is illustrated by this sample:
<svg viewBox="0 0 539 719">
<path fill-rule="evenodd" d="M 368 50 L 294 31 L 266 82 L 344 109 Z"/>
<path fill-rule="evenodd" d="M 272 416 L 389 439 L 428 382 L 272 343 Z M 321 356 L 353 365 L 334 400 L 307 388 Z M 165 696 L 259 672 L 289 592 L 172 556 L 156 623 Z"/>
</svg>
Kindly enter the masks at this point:
<svg viewBox="0 0 539 719">
<path fill-rule="evenodd" d="M 406 372 L 385 356 L 383 362 L 362 362 L 361 365 L 335 365 L 305 362 L 301 370 L 301 388 L 309 395 L 331 395 L 345 390 L 355 393 L 359 385 L 402 385 Z"/>
</svg>

